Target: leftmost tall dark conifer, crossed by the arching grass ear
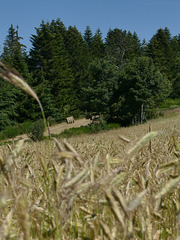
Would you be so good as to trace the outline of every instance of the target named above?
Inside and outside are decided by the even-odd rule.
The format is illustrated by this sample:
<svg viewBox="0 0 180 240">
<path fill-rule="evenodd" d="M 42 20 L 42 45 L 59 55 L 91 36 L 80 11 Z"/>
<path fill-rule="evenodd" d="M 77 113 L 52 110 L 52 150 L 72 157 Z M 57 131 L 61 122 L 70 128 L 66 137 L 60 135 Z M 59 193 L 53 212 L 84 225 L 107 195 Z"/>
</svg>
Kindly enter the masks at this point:
<svg viewBox="0 0 180 240">
<path fill-rule="evenodd" d="M 31 80 L 31 75 L 28 71 L 26 47 L 21 44 L 22 38 L 19 37 L 18 27 L 15 29 L 13 25 L 8 30 L 8 35 L 4 42 L 3 53 L 1 55 L 1 60 L 7 64 L 10 68 L 15 68 L 28 82 Z M 1 85 L 1 91 L 4 92 L 4 96 L 1 97 L 1 106 L 6 105 L 6 116 L 8 116 L 8 122 L 23 122 L 30 117 L 31 105 L 29 102 L 29 97 L 23 93 L 20 89 L 14 88 L 14 86 L 4 83 Z M 6 95 L 6 96 L 5 96 Z M 9 108 L 8 108 L 8 96 Z M 3 102 L 5 101 L 5 102 Z M 14 108 L 13 108 L 14 106 Z M 14 109 L 8 111 L 8 109 Z M 4 112 L 4 109 L 2 109 Z M 7 114 L 9 112 L 9 115 Z"/>
</svg>

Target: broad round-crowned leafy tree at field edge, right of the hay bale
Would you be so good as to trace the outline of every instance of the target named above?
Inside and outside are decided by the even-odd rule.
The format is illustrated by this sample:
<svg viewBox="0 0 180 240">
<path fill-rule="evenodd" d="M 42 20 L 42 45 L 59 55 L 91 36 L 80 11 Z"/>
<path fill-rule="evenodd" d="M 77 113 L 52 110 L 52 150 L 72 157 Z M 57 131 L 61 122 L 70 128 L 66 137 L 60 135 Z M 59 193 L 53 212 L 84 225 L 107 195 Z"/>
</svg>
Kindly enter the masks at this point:
<svg viewBox="0 0 180 240">
<path fill-rule="evenodd" d="M 121 68 L 118 90 L 114 95 L 113 115 L 125 125 L 134 118 L 140 122 L 142 107 L 146 118 L 148 112 L 170 93 L 171 83 L 159 72 L 152 59 L 139 57 Z"/>
</svg>

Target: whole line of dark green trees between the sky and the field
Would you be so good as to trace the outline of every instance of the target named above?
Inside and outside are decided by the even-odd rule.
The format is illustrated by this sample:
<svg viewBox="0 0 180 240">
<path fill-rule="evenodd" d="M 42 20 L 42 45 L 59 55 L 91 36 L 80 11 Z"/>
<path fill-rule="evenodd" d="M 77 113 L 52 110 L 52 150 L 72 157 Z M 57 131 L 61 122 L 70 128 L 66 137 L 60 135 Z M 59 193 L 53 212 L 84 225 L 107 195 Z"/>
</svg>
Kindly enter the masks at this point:
<svg viewBox="0 0 180 240">
<path fill-rule="evenodd" d="M 167 97 L 180 97 L 180 34 L 167 28 L 148 43 L 118 28 L 103 40 L 100 29 L 81 34 L 57 19 L 36 28 L 29 53 L 21 40 L 11 25 L 1 61 L 35 89 L 46 117 L 56 121 L 93 112 L 128 125 L 151 117 Z M 0 130 L 39 118 L 36 102 L 0 79 Z"/>
</svg>

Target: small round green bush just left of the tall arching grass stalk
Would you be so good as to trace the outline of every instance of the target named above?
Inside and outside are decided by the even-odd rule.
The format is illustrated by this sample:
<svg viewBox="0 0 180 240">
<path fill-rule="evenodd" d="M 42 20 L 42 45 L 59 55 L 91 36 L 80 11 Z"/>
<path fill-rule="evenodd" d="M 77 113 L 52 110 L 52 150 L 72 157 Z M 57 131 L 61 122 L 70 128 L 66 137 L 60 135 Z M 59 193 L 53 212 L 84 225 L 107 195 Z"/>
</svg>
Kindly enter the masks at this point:
<svg viewBox="0 0 180 240">
<path fill-rule="evenodd" d="M 42 119 L 36 121 L 29 129 L 28 137 L 33 141 L 41 141 L 44 136 L 45 126 Z"/>
</svg>

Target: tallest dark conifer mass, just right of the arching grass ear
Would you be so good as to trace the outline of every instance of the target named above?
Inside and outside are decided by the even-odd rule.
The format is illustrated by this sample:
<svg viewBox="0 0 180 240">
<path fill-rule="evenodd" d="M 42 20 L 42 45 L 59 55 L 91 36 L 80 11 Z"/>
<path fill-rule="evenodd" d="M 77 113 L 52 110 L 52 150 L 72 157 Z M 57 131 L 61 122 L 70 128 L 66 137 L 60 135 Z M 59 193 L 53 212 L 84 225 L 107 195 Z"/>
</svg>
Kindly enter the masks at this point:
<svg viewBox="0 0 180 240">
<path fill-rule="evenodd" d="M 43 21 L 36 33 L 31 38 L 33 47 L 29 56 L 36 79 L 34 85 L 46 115 L 60 120 L 65 112 L 77 109 L 74 77 L 64 44 L 66 30 L 58 19 L 51 23 Z"/>
</svg>

